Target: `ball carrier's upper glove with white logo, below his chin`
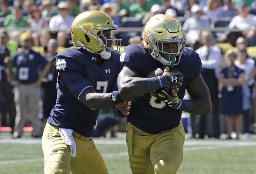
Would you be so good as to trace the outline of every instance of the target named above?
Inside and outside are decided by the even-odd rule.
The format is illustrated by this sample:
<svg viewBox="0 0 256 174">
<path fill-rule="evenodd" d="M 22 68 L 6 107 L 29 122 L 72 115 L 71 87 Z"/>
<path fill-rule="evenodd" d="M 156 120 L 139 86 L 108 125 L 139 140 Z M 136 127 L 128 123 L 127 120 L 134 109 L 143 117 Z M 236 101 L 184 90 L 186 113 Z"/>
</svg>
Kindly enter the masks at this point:
<svg viewBox="0 0 256 174">
<path fill-rule="evenodd" d="M 172 93 L 176 90 L 175 88 L 179 88 L 183 83 L 183 74 L 171 72 L 168 66 L 164 67 L 162 76 L 164 76 L 167 81 L 166 87 L 172 88 Z"/>
</svg>

